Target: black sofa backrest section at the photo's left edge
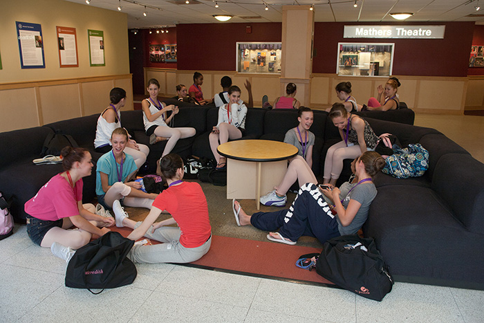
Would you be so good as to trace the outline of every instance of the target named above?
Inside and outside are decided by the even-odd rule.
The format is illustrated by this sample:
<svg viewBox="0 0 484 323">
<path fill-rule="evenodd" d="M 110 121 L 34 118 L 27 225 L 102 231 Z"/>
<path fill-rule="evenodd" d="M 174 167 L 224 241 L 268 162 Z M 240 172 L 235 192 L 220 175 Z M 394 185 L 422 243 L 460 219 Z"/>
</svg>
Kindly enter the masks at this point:
<svg viewBox="0 0 484 323">
<path fill-rule="evenodd" d="M 46 137 L 54 131 L 48 127 L 33 127 L 0 133 L 0 169 L 26 158 L 40 158 Z M 33 164 L 32 164 L 33 165 Z"/>
</svg>

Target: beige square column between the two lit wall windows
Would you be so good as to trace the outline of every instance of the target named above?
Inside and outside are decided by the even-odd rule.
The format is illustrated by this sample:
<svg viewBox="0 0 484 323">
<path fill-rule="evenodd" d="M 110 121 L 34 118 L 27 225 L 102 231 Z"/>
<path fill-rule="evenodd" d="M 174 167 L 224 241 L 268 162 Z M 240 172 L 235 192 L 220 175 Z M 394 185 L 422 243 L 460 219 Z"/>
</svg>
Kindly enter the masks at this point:
<svg viewBox="0 0 484 323">
<path fill-rule="evenodd" d="M 308 107 L 313 71 L 314 11 L 310 6 L 282 6 L 281 93 L 297 85 L 296 98 Z"/>
</svg>

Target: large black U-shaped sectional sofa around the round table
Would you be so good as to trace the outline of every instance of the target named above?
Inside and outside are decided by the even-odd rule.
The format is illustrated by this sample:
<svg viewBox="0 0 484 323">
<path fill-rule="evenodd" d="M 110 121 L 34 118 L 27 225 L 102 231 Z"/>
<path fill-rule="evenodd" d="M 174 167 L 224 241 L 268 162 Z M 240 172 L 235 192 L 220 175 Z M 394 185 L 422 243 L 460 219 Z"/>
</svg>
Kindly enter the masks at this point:
<svg viewBox="0 0 484 323">
<path fill-rule="evenodd" d="M 175 127 L 194 127 L 196 136 L 179 140 L 173 152 L 181 156 L 212 158 L 208 134 L 217 121 L 217 109 L 178 101 L 180 113 Z M 363 227 L 373 237 L 395 279 L 466 288 L 484 289 L 484 165 L 465 149 L 435 129 L 413 126 L 411 109 L 358 113 L 375 133 L 393 133 L 402 145 L 420 142 L 429 150 L 429 170 L 420 178 L 397 179 L 378 174 L 378 196 Z M 310 131 L 316 136 L 313 171 L 321 174 L 326 149 L 340 140 L 325 111 L 315 111 Z M 0 191 L 12 196 L 15 221 L 25 222 L 24 203 L 61 165 L 34 165 L 46 136 L 53 131 L 68 133 L 81 147 L 93 152 L 98 115 L 63 120 L 42 127 L 0 133 Z M 382 120 L 380 120 L 382 119 Z M 141 111 L 122 111 L 122 125 L 138 142 L 148 145 Z M 297 125 L 297 111 L 248 109 L 244 138 L 283 140 Z M 164 142 L 149 146 L 145 172 L 154 172 Z M 347 161 L 349 165 L 350 160 Z M 349 169 L 349 167 L 346 167 Z M 347 174 L 346 174 L 347 176 Z M 342 180 L 345 178 L 342 174 Z M 84 202 L 95 197 L 95 172 L 84 178 Z"/>
</svg>

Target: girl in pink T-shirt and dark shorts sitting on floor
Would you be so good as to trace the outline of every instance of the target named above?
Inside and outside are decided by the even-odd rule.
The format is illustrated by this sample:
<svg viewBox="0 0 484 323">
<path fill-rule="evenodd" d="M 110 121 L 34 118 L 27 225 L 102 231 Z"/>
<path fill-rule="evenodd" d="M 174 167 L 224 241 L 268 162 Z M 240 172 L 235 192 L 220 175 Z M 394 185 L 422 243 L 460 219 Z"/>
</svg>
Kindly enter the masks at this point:
<svg viewBox="0 0 484 323">
<path fill-rule="evenodd" d="M 109 232 L 106 227 L 112 226 L 114 219 L 95 214 L 92 204 L 82 204 L 82 178 L 91 175 L 93 168 L 89 151 L 64 147 L 61 155 L 65 172 L 50 178 L 25 203 L 27 233 L 41 247 L 50 248 L 57 242 L 78 249 L 89 243 L 93 234 Z"/>
</svg>

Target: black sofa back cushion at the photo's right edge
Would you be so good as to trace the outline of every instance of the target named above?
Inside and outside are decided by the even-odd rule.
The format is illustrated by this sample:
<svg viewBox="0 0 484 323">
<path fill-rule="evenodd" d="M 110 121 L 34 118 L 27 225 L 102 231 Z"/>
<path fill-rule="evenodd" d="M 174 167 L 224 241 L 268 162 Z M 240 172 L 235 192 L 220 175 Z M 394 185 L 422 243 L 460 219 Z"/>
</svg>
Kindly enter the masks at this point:
<svg viewBox="0 0 484 323">
<path fill-rule="evenodd" d="M 484 230 L 484 164 L 469 154 L 445 154 L 434 170 L 431 189 L 471 232 Z"/>
</svg>

